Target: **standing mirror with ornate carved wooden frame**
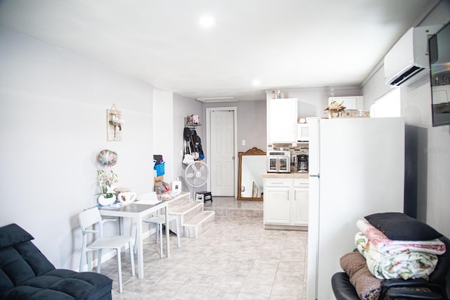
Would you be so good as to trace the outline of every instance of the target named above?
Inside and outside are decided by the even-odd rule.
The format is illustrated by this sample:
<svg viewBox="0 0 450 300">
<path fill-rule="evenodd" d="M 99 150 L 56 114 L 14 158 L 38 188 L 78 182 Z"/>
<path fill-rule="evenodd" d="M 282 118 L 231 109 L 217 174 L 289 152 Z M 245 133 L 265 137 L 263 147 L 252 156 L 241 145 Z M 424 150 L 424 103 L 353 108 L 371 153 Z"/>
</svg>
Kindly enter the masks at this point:
<svg viewBox="0 0 450 300">
<path fill-rule="evenodd" d="M 266 152 L 253 147 L 246 152 L 239 152 L 239 200 L 263 200 L 266 173 Z"/>
</svg>

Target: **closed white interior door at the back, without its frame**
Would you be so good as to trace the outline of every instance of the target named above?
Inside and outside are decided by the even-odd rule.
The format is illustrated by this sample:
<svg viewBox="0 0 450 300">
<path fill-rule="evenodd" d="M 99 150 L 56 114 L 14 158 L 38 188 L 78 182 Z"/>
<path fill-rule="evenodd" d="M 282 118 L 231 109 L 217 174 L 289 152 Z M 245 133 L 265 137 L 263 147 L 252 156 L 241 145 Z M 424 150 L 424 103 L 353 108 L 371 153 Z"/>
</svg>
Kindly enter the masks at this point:
<svg viewBox="0 0 450 300">
<path fill-rule="evenodd" d="M 234 196 L 234 111 L 211 111 L 210 173 L 214 196 Z"/>
</svg>

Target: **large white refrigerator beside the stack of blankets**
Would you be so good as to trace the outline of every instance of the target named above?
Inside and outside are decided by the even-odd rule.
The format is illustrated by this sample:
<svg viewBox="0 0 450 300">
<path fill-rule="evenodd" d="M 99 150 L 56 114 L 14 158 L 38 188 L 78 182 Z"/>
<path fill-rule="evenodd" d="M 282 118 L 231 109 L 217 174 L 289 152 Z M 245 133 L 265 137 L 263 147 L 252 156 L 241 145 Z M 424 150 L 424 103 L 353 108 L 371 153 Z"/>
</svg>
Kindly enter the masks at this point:
<svg viewBox="0 0 450 300">
<path fill-rule="evenodd" d="M 316 119 L 309 130 L 307 295 L 328 300 L 356 221 L 404 211 L 404 118 Z"/>
</svg>

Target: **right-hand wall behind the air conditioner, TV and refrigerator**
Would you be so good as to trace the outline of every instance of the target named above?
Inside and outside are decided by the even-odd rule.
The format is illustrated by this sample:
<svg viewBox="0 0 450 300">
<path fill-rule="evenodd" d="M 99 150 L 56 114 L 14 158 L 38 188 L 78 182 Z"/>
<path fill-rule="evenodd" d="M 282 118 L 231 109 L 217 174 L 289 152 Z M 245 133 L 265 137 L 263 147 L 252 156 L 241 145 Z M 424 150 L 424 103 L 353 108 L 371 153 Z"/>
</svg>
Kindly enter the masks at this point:
<svg viewBox="0 0 450 300">
<path fill-rule="evenodd" d="M 419 26 L 450 21 L 450 1 L 441 1 Z M 365 105 L 390 89 L 384 84 L 384 69 L 378 70 L 363 88 Z M 401 87 L 401 113 L 407 125 L 406 171 L 413 164 L 416 176 L 413 194 L 418 201 L 418 217 L 450 236 L 450 126 L 432 127 L 430 79 L 423 76 Z M 412 158 L 411 158 L 412 156 Z M 425 212 L 424 212 L 425 211 Z"/>
</svg>

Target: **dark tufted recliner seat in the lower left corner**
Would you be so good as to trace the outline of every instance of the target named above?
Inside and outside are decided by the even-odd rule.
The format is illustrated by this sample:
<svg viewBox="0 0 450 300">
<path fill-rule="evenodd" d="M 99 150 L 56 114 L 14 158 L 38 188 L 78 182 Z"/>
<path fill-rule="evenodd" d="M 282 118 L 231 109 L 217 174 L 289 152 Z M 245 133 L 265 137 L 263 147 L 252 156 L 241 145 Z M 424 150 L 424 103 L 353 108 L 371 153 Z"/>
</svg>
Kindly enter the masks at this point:
<svg viewBox="0 0 450 300">
<path fill-rule="evenodd" d="M 0 300 L 112 299 L 113 280 L 56 269 L 16 224 L 0 227 Z"/>
</svg>

